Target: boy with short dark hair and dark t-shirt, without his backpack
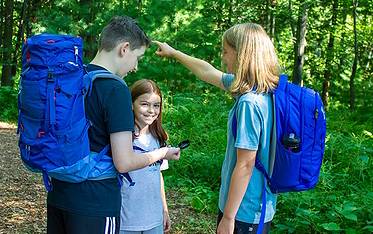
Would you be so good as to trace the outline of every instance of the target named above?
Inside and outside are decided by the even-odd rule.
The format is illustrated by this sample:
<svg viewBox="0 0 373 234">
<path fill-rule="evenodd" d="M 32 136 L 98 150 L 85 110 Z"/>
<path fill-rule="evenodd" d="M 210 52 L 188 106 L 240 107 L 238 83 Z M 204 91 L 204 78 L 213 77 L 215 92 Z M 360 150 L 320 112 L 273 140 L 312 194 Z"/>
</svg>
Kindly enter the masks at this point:
<svg viewBox="0 0 373 234">
<path fill-rule="evenodd" d="M 126 16 L 113 17 L 102 30 L 99 50 L 87 70 L 109 71 L 119 77 L 136 71 L 150 40 Z M 114 79 L 97 79 L 85 100 L 85 111 L 92 126 L 90 148 L 100 152 L 110 144 L 113 163 L 120 173 L 148 166 L 160 159 L 179 159 L 178 148 L 163 147 L 149 153 L 132 150 L 134 120 L 131 94 Z M 47 232 L 65 234 L 119 233 L 121 196 L 117 178 L 68 183 L 52 179 L 48 193 Z"/>
</svg>

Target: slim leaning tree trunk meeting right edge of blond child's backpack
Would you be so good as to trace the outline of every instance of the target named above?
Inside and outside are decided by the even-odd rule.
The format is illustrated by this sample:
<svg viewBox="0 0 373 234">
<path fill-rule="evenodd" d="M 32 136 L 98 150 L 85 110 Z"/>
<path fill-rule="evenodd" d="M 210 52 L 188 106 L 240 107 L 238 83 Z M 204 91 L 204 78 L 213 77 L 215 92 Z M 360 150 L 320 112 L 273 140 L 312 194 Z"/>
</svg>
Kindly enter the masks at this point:
<svg viewBox="0 0 373 234">
<path fill-rule="evenodd" d="M 329 34 L 328 49 L 326 51 L 324 81 L 323 81 L 323 86 L 322 86 L 323 89 L 322 89 L 322 95 L 321 95 L 325 109 L 328 108 L 328 104 L 329 104 L 328 96 L 329 96 L 330 80 L 332 77 L 332 67 L 333 67 L 333 60 L 334 60 L 334 32 L 335 32 L 335 26 L 337 23 L 337 10 L 338 10 L 338 0 L 334 0 L 333 6 L 332 6 L 332 18 L 330 22 L 330 34 Z"/>
</svg>

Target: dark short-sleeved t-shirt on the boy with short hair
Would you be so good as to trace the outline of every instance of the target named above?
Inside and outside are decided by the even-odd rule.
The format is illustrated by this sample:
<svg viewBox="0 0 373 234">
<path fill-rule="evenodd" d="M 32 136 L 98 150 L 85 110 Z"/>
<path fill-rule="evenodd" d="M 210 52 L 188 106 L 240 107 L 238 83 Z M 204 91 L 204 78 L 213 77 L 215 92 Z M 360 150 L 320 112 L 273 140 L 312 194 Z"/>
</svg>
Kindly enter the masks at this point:
<svg viewBox="0 0 373 234">
<path fill-rule="evenodd" d="M 104 70 L 89 64 L 88 71 Z M 85 100 L 91 151 L 100 152 L 110 144 L 110 134 L 134 130 L 131 93 L 127 86 L 109 78 L 94 81 L 91 96 Z M 111 156 L 109 152 L 108 155 Z M 118 179 L 87 180 L 68 183 L 52 179 L 48 204 L 80 215 L 120 216 L 121 196 Z"/>
</svg>

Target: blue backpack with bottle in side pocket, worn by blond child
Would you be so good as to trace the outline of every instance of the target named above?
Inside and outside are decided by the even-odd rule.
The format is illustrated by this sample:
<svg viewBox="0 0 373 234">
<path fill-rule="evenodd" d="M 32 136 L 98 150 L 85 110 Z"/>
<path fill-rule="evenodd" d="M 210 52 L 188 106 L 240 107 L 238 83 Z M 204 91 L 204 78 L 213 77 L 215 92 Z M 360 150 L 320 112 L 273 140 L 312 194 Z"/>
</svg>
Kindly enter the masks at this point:
<svg viewBox="0 0 373 234">
<path fill-rule="evenodd" d="M 268 184 L 272 193 L 314 188 L 319 179 L 325 149 L 326 118 L 317 92 L 289 83 L 286 75 L 280 75 L 272 97 L 274 124 L 269 171 L 258 158 L 255 159 L 255 167 L 265 178 L 258 233 L 262 233 L 265 218 L 265 185 Z M 232 132 L 236 138 L 236 112 Z"/>
</svg>

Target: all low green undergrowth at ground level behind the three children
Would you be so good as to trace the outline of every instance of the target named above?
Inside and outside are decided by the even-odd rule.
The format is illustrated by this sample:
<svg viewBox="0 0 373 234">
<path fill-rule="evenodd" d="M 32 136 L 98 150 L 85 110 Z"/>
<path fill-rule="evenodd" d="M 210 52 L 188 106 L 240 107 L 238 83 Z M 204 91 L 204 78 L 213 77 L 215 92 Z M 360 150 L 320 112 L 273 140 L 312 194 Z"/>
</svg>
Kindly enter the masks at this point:
<svg viewBox="0 0 373 234">
<path fill-rule="evenodd" d="M 165 172 L 168 190 L 177 191 L 198 217 L 174 226 L 175 233 L 213 233 L 220 170 L 232 98 L 195 86 L 164 93 L 164 124 L 170 143 L 189 139 L 179 162 Z M 16 93 L 1 88 L 0 119 L 16 120 Z M 327 113 L 326 151 L 315 189 L 279 195 L 273 233 L 373 232 L 373 111 L 331 107 Z M 180 204 L 171 204 L 175 212 Z"/>
</svg>

